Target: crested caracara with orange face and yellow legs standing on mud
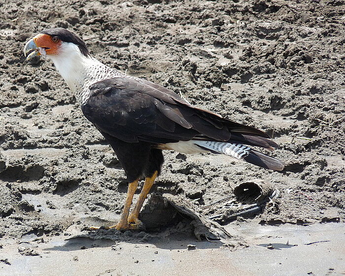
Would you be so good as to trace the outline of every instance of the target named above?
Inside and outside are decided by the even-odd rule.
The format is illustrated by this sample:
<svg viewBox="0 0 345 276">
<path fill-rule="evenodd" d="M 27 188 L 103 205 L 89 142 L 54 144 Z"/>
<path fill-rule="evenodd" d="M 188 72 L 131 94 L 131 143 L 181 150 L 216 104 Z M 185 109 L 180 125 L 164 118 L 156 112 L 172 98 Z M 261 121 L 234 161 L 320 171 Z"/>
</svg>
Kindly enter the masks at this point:
<svg viewBox="0 0 345 276">
<path fill-rule="evenodd" d="M 49 58 L 80 104 L 84 116 L 110 144 L 123 167 L 128 192 L 120 231 L 144 229 L 140 209 L 161 173 L 163 150 L 225 154 L 281 171 L 284 163 L 252 147 L 278 148 L 265 132 L 201 109 L 151 81 L 124 74 L 95 59 L 85 42 L 64 28 L 43 30 L 27 41 L 27 60 Z M 145 178 L 138 201 L 133 196 Z"/>
</svg>

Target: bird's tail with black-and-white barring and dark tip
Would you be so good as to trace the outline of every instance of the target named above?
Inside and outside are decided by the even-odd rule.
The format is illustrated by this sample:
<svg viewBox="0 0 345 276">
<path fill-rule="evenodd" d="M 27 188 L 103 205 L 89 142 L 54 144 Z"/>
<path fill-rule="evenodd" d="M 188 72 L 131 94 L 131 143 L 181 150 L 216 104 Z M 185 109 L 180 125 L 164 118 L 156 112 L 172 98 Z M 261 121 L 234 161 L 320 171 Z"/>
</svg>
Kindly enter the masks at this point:
<svg viewBox="0 0 345 276">
<path fill-rule="evenodd" d="M 275 171 L 281 171 L 284 169 L 284 164 L 278 159 L 254 150 L 247 145 L 205 140 L 193 140 L 193 143 L 213 153 L 224 153 L 265 169 Z"/>
</svg>

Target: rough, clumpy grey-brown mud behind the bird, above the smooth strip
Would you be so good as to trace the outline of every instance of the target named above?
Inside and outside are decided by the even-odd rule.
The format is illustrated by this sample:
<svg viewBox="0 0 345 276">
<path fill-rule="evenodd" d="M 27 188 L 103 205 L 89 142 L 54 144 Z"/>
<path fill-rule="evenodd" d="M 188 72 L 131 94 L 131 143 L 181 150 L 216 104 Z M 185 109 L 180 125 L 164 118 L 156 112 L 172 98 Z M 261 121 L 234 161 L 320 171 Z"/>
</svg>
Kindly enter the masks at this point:
<svg viewBox="0 0 345 276">
<path fill-rule="evenodd" d="M 260 128 L 281 146 L 272 156 L 286 163 L 282 172 L 167 151 L 157 195 L 227 229 L 345 221 L 344 1 L 1 0 L 0 11 L 0 267 L 15 258 L 7 246 L 92 235 L 83 228 L 116 221 L 126 196 L 116 156 L 52 63 L 23 56 L 25 42 L 52 27 L 80 35 L 108 66 Z M 253 178 L 279 191 L 259 211 L 236 218 L 229 200 L 207 206 Z M 193 230 L 184 217 L 112 240 L 193 241 Z M 232 248 L 248 245 L 232 235 Z"/>
</svg>

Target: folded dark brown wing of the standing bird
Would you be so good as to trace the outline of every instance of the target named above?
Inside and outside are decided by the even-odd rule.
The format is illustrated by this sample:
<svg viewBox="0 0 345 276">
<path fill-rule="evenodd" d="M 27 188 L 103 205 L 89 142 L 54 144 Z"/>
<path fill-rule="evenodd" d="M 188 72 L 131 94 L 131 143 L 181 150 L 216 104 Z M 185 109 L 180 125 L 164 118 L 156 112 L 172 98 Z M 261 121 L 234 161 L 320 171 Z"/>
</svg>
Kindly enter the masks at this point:
<svg viewBox="0 0 345 276">
<path fill-rule="evenodd" d="M 100 131 L 127 142 L 168 143 L 192 138 L 277 147 L 255 128 L 224 119 L 172 91 L 132 77 L 109 78 L 90 87 L 84 115 Z"/>
</svg>

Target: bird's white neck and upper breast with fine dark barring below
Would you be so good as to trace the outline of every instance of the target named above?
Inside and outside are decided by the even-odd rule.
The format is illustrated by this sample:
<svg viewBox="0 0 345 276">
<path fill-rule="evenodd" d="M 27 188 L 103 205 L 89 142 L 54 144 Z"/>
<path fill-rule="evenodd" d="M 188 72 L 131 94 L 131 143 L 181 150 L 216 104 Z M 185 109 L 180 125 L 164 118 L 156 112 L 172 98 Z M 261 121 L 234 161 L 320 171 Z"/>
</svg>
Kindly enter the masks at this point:
<svg viewBox="0 0 345 276">
<path fill-rule="evenodd" d="M 93 83 L 122 75 L 91 56 L 84 56 L 73 43 L 63 42 L 58 55 L 47 55 L 77 101 L 83 105 L 89 97 L 89 87 Z"/>
</svg>

